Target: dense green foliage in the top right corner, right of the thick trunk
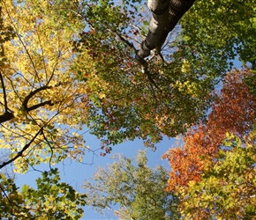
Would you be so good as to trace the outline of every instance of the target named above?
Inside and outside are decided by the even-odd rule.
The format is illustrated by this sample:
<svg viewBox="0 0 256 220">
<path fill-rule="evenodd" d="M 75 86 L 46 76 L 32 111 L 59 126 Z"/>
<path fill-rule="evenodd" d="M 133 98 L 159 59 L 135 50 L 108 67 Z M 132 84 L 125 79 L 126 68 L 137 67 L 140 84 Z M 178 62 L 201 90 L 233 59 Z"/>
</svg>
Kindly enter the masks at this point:
<svg viewBox="0 0 256 220">
<path fill-rule="evenodd" d="M 180 20 L 182 34 L 178 45 L 183 45 L 188 56 L 201 57 L 207 68 L 218 65 L 225 70 L 232 67 L 230 61 L 238 56 L 255 70 L 255 5 L 254 0 L 196 1 Z"/>
</svg>

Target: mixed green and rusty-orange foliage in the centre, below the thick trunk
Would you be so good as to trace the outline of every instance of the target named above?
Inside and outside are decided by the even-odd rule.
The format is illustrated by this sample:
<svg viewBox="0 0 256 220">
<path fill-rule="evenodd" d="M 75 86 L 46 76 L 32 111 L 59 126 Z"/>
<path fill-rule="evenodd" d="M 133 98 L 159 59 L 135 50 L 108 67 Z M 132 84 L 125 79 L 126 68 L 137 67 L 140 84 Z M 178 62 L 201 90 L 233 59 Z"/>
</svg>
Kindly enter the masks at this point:
<svg viewBox="0 0 256 220">
<path fill-rule="evenodd" d="M 216 77 L 222 77 L 222 73 L 206 69 L 202 59 L 191 65 L 184 51 L 175 47 L 169 48 L 164 63 L 151 55 L 148 73 L 141 71 L 134 61 L 139 35 L 134 29 L 142 30 L 144 22 L 137 27 L 129 24 L 143 17 L 134 6 L 135 12 L 130 16 L 121 12 L 122 22 L 118 19 L 113 23 L 112 18 L 117 17 L 118 10 L 125 11 L 125 6 L 109 5 L 112 10 L 105 4 L 88 6 L 84 17 L 91 29 L 74 41 L 79 53 L 75 69 L 87 82 L 87 97 L 83 100 L 87 126 L 102 138 L 102 148 L 136 137 L 154 148 L 162 136 L 177 136 L 204 118 L 219 80 Z M 132 18 L 132 13 L 138 16 Z"/>
</svg>

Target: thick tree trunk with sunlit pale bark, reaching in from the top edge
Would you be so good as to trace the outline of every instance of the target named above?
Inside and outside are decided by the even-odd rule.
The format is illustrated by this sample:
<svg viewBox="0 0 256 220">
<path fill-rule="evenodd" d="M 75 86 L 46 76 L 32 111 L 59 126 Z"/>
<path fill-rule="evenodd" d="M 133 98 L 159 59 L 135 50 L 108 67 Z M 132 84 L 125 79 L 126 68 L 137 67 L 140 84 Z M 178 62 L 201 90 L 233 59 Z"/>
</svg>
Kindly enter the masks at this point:
<svg viewBox="0 0 256 220">
<path fill-rule="evenodd" d="M 147 37 L 136 54 L 139 62 L 144 62 L 144 58 L 150 55 L 150 50 L 162 47 L 168 33 L 173 30 L 194 2 L 195 0 L 148 0 L 147 6 L 153 16 Z"/>
</svg>

